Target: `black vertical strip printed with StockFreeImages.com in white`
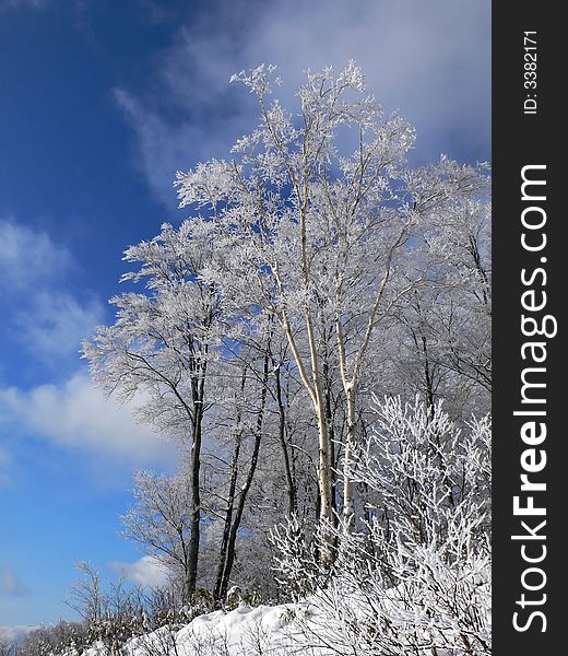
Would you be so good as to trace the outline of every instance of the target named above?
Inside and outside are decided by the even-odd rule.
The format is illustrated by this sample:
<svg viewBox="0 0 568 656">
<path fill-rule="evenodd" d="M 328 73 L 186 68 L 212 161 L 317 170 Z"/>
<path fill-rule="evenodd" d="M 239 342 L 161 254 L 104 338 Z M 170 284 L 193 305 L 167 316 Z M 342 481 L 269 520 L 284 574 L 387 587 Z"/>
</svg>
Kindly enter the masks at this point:
<svg viewBox="0 0 568 656">
<path fill-rule="evenodd" d="M 560 320 L 568 304 L 568 166 L 560 163 L 568 34 L 560 7 L 493 3 L 496 656 L 568 654 L 568 358 Z M 534 319 L 524 333 L 523 315 Z"/>
</svg>

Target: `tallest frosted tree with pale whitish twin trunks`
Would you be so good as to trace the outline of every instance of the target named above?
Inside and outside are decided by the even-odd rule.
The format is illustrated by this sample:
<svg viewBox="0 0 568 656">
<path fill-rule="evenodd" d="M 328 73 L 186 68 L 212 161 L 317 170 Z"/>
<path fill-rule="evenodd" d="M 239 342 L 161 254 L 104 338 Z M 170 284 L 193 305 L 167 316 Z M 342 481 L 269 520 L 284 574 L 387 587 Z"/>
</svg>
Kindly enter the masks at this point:
<svg viewBox="0 0 568 656">
<path fill-rule="evenodd" d="M 442 157 L 413 169 L 414 129 L 386 115 L 354 65 L 308 72 L 299 116 L 269 103 L 273 67 L 235 75 L 258 97 L 261 122 L 233 161 L 178 173 L 181 207 L 205 207 L 227 245 L 220 288 L 274 316 L 285 335 L 318 426 L 320 516 L 333 520 L 332 443 L 326 377 L 343 396 L 343 513 L 353 515 L 348 467 L 360 380 L 371 342 L 427 276 L 425 225 L 481 187 L 476 167 Z M 338 438 L 338 436 L 335 436 Z"/>
</svg>

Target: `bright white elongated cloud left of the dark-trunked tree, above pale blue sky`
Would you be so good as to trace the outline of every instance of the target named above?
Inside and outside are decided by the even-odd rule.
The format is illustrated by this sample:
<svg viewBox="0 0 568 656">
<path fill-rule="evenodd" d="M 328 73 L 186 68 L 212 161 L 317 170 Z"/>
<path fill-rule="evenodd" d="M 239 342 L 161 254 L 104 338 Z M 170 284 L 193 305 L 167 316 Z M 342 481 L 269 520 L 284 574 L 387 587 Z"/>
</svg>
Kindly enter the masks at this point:
<svg viewBox="0 0 568 656">
<path fill-rule="evenodd" d="M 0 389 L 0 414 L 26 433 L 131 465 L 170 464 L 176 445 L 137 423 L 131 406 L 117 406 L 79 373 L 61 385 Z"/>
</svg>

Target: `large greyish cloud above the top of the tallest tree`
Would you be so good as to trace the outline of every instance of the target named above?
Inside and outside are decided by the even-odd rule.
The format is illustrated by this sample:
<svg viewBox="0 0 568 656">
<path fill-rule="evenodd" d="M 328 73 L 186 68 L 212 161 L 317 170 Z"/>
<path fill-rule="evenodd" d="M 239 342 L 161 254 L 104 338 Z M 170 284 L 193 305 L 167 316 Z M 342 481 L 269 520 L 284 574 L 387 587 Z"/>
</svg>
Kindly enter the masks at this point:
<svg viewBox="0 0 568 656">
<path fill-rule="evenodd" d="M 162 54 L 151 89 L 116 91 L 137 134 L 137 164 L 168 204 L 176 169 L 224 155 L 255 127 L 249 94 L 229 89 L 228 78 L 261 62 L 279 66 L 289 101 L 306 68 L 355 59 L 386 108 L 417 126 L 428 159 L 464 144 L 489 156 L 488 0 L 360 0 L 356 11 L 346 0 L 279 0 L 202 16 L 191 15 Z"/>
</svg>

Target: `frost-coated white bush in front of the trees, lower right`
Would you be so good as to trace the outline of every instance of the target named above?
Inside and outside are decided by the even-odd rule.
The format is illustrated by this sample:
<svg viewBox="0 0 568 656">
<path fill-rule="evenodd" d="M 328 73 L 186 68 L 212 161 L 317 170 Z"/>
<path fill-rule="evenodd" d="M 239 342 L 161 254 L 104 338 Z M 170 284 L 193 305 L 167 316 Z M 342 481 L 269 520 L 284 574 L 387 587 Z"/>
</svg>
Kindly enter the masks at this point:
<svg viewBox="0 0 568 656">
<path fill-rule="evenodd" d="M 345 655 L 489 654 L 489 419 L 460 430 L 440 406 L 387 398 L 376 420 L 351 464 L 372 504 L 339 523 L 331 572 L 298 549 L 295 520 L 274 532 L 279 578 L 312 591 L 305 639 Z"/>
</svg>

